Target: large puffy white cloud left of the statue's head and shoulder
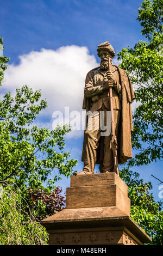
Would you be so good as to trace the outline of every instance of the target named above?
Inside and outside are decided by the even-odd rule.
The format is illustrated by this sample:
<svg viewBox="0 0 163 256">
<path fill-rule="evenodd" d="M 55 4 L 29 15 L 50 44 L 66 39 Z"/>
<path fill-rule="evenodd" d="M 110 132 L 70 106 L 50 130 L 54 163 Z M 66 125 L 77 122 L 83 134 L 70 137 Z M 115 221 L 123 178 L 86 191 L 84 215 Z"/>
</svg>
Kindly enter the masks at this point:
<svg viewBox="0 0 163 256">
<path fill-rule="evenodd" d="M 65 106 L 82 110 L 85 76 L 98 66 L 86 47 L 64 46 L 56 51 L 42 48 L 19 57 L 18 65 L 9 65 L 4 87 L 11 92 L 23 84 L 41 89 L 47 99 L 46 114 L 63 111 Z"/>
</svg>

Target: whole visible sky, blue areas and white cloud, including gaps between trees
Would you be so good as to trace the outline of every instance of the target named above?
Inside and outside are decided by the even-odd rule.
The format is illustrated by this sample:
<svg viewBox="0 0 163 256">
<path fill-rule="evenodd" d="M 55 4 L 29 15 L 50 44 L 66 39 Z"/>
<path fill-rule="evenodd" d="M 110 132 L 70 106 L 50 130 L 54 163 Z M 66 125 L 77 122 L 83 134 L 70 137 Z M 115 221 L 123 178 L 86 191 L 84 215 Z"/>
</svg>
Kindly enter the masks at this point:
<svg viewBox="0 0 163 256">
<path fill-rule="evenodd" d="M 74 109 L 82 110 L 86 72 L 99 63 L 97 45 L 110 41 L 117 53 L 122 47 L 133 47 L 144 39 L 140 23 L 136 21 L 141 2 L 0 0 L 0 36 L 4 38 L 4 56 L 10 57 L 2 94 L 8 90 L 14 91 L 24 83 L 34 89 L 41 88 L 49 108 L 40 115 L 38 122 L 47 127 L 52 127 L 54 110 L 62 110 L 64 106 L 73 109 L 75 95 L 78 95 L 79 103 L 73 102 Z M 63 63 L 66 63 L 65 66 Z M 44 77 L 37 69 L 39 65 Z M 64 71 L 59 73 L 59 69 Z M 61 77 L 62 74 L 64 77 Z M 66 88 L 71 88 L 72 94 Z M 75 168 L 78 171 L 83 168 L 80 161 L 82 144 L 83 133 L 66 137 L 66 150 L 71 150 L 72 157 L 79 160 Z M 156 200 L 159 200 L 159 182 L 151 174 L 161 179 L 161 168 L 161 161 L 133 168 L 139 171 L 141 178 L 152 181 Z M 62 179 L 58 185 L 65 190 L 70 186 L 70 179 Z"/>
</svg>

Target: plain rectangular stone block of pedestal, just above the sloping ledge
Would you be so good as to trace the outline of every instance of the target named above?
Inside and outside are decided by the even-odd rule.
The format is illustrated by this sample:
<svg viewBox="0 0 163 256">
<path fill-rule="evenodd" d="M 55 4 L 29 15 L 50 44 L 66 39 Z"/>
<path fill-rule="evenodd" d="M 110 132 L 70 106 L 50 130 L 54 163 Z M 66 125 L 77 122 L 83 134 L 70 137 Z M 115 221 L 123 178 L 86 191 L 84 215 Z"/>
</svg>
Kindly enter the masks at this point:
<svg viewBox="0 0 163 256">
<path fill-rule="evenodd" d="M 117 185 L 70 187 L 66 198 L 66 209 L 116 206 L 130 215 L 130 199 Z"/>
</svg>

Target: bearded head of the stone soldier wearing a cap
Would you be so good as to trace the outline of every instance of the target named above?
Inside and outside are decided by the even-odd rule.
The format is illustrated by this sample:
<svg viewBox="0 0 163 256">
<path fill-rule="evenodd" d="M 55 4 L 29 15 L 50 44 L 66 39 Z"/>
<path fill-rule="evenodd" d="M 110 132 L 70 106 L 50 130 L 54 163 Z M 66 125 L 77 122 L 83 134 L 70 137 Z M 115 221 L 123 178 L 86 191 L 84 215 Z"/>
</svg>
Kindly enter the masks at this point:
<svg viewBox="0 0 163 256">
<path fill-rule="evenodd" d="M 101 58 L 101 69 L 108 69 L 109 58 L 110 62 L 112 63 L 112 59 L 115 57 L 114 48 L 109 42 L 103 42 L 102 44 L 98 45 L 97 52 L 98 57 Z"/>
</svg>

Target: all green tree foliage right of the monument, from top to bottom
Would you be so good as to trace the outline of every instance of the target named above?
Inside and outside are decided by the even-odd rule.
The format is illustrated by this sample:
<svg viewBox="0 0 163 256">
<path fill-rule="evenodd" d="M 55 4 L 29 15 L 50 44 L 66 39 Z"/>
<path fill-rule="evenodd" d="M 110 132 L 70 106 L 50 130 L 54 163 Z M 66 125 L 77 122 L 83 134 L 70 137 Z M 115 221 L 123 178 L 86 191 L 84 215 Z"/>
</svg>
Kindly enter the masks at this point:
<svg viewBox="0 0 163 256">
<path fill-rule="evenodd" d="M 133 115 L 133 148 L 137 153 L 128 166 L 140 166 L 162 159 L 163 120 L 163 0 L 145 0 L 139 8 L 137 20 L 147 41 L 139 41 L 133 48 L 118 53 L 121 68 L 126 70 L 134 84 L 139 106 Z M 123 168 L 121 178 L 128 185 L 131 200 L 131 218 L 152 237 L 152 245 L 162 245 L 162 203 L 155 202 L 151 182 L 143 182 L 139 174 Z"/>
</svg>

